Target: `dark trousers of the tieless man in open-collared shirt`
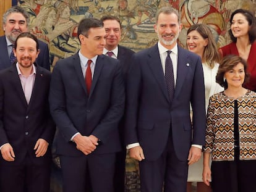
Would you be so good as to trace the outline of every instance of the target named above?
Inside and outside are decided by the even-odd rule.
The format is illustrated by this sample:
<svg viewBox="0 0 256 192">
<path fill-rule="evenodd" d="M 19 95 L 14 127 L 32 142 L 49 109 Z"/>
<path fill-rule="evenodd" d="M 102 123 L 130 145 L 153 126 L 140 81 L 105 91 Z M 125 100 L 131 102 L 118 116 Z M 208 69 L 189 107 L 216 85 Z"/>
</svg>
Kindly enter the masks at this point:
<svg viewBox="0 0 256 192">
<path fill-rule="evenodd" d="M 49 163 L 34 165 L 30 158 L 23 165 L 0 164 L 0 191 L 49 192 L 50 170 Z"/>
</svg>

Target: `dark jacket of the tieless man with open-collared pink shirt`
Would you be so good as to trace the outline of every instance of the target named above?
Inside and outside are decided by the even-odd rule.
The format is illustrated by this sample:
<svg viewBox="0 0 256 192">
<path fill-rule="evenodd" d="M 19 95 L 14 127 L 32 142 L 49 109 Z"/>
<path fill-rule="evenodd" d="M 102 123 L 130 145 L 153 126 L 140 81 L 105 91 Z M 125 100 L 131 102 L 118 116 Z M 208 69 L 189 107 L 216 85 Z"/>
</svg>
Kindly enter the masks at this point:
<svg viewBox="0 0 256 192">
<path fill-rule="evenodd" d="M 35 84 L 29 104 L 25 99 L 16 65 L 0 72 L 0 146 L 10 143 L 14 148 L 15 161 L 7 162 L 0 157 L 0 163 L 18 165 L 25 156 L 35 164 L 51 160 L 51 149 L 45 156 L 35 157 L 36 141 L 43 138 L 52 143 L 55 125 L 49 112 L 49 83 L 51 73 L 36 67 Z"/>
</svg>

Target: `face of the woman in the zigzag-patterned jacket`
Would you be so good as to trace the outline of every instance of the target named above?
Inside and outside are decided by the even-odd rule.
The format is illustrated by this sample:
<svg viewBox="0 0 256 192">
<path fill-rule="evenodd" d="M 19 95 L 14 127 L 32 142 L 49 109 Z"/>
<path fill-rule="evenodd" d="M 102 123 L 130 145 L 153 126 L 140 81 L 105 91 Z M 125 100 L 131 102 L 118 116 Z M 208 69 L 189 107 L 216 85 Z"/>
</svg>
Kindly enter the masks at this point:
<svg viewBox="0 0 256 192">
<path fill-rule="evenodd" d="M 239 62 L 233 69 L 224 73 L 228 83 L 228 88 L 239 88 L 242 87 L 245 78 L 244 65 Z"/>
</svg>

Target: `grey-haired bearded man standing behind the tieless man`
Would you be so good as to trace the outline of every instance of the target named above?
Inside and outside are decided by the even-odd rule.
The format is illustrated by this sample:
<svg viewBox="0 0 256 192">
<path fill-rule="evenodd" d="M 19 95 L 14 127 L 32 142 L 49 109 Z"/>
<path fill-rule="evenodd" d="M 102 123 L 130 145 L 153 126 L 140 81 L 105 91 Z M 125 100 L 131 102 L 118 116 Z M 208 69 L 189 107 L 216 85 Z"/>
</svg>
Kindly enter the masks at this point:
<svg viewBox="0 0 256 192">
<path fill-rule="evenodd" d="M 28 13 L 22 7 L 14 6 L 8 9 L 2 16 L 4 36 L 0 36 L 0 70 L 11 66 L 12 46 L 20 33 L 28 31 Z M 36 58 L 36 64 L 50 70 L 48 44 L 39 41 L 40 54 Z"/>
</svg>

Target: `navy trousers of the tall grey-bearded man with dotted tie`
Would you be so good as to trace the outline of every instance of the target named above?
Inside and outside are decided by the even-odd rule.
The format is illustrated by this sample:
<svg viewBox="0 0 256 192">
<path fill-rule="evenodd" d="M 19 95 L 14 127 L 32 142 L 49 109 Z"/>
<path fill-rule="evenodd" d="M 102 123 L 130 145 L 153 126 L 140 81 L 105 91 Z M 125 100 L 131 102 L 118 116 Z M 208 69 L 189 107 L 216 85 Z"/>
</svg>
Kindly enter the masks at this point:
<svg viewBox="0 0 256 192">
<path fill-rule="evenodd" d="M 147 158 L 147 157 L 145 157 Z M 170 137 L 163 154 L 156 161 L 139 162 L 141 192 L 186 192 L 187 161 L 179 161 Z"/>
</svg>

